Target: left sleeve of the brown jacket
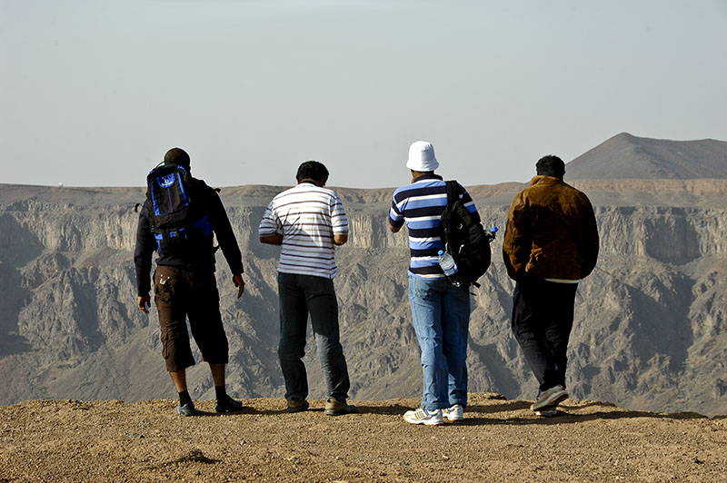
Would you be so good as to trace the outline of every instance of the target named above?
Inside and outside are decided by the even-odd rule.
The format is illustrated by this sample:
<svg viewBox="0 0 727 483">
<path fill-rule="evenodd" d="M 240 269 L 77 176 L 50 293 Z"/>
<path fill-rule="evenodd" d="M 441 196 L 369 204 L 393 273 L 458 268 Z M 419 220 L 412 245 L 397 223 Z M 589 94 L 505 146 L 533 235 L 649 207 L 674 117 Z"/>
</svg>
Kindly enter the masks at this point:
<svg viewBox="0 0 727 483">
<path fill-rule="evenodd" d="M 530 260 L 531 222 L 523 192 L 515 196 L 507 213 L 507 225 L 503 237 L 503 261 L 508 276 L 517 280 L 525 273 Z"/>
</svg>

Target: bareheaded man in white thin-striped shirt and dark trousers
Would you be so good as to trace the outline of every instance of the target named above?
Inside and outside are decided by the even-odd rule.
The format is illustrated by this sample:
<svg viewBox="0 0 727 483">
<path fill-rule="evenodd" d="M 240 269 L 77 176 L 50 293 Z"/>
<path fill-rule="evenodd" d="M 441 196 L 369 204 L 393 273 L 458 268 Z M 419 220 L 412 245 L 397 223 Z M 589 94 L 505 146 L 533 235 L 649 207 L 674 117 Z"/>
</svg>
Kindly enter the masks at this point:
<svg viewBox="0 0 727 483">
<path fill-rule="evenodd" d="M 351 382 L 339 340 L 338 302 L 334 291 L 335 246 L 348 241 L 348 219 L 338 195 L 325 189 L 328 170 L 306 161 L 293 188 L 268 204 L 260 222 L 260 242 L 280 245 L 278 357 L 285 380 L 287 410 L 308 409 L 308 379 L 303 356 L 308 314 L 326 386 L 325 414 L 355 412 L 349 405 Z"/>
</svg>

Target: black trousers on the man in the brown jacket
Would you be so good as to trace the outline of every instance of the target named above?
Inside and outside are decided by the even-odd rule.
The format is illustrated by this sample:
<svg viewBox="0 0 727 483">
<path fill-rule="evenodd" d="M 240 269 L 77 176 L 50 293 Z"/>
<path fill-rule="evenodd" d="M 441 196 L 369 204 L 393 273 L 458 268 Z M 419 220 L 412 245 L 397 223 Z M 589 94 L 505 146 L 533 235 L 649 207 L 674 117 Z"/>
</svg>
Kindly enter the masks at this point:
<svg viewBox="0 0 727 483">
<path fill-rule="evenodd" d="M 513 292 L 513 335 L 540 390 L 565 387 L 566 351 L 573 328 L 577 283 L 523 277 Z"/>
</svg>

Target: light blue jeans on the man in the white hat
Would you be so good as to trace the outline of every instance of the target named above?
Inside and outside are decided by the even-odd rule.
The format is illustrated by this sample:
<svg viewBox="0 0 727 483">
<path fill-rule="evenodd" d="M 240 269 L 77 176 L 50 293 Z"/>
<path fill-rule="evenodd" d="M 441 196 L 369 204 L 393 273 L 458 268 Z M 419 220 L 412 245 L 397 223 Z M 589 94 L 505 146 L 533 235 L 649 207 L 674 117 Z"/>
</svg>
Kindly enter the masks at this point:
<svg viewBox="0 0 727 483">
<path fill-rule="evenodd" d="M 409 301 L 422 350 L 422 408 L 467 406 L 467 337 L 470 294 L 446 279 L 409 274 Z"/>
</svg>

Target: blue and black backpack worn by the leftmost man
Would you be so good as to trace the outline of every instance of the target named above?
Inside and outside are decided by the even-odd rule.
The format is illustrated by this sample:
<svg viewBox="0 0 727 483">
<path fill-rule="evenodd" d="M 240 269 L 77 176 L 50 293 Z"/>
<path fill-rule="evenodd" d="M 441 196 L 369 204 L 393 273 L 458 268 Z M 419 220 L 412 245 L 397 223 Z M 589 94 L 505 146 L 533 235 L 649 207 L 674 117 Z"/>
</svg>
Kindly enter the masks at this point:
<svg viewBox="0 0 727 483">
<path fill-rule="evenodd" d="M 146 176 L 147 217 L 160 255 L 189 250 L 195 240 L 212 238 L 212 221 L 197 199 L 200 192 L 187 168 L 160 164 Z"/>
</svg>

